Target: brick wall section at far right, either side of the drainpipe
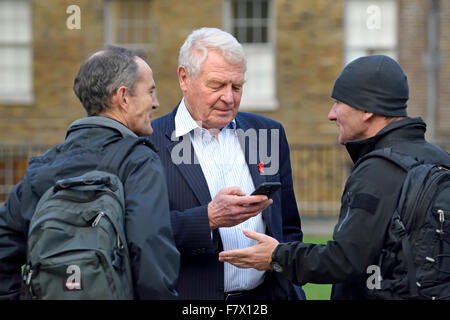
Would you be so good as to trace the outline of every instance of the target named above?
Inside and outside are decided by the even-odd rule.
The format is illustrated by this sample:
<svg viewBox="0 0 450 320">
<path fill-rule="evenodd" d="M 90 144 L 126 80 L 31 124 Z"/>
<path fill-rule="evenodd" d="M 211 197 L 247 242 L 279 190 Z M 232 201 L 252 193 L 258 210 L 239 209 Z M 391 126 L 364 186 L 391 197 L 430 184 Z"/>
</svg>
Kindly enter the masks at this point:
<svg viewBox="0 0 450 320">
<path fill-rule="evenodd" d="M 438 47 L 442 65 L 438 75 L 436 140 L 450 139 L 450 2 L 439 2 Z M 427 121 L 427 68 L 423 61 L 428 51 L 429 1 L 399 0 L 398 60 L 408 75 L 410 100 L 408 114 Z"/>
</svg>

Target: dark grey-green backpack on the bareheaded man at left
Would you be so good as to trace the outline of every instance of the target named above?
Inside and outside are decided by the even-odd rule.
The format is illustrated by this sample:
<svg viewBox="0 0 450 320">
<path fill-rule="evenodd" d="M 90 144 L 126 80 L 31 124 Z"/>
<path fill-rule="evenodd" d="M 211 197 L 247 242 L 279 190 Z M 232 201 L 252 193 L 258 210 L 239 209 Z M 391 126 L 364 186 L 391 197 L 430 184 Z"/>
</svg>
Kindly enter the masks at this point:
<svg viewBox="0 0 450 320">
<path fill-rule="evenodd" d="M 117 172 L 138 144 L 151 146 L 123 138 L 95 170 L 58 180 L 42 195 L 28 231 L 22 299 L 133 299 Z"/>
</svg>

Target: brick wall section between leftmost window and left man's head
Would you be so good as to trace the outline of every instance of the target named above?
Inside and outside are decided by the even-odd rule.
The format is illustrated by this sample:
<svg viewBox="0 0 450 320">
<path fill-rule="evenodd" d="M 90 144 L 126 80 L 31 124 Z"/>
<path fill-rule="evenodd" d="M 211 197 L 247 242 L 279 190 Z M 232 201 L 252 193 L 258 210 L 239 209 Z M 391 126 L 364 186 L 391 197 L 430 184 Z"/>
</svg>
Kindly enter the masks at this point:
<svg viewBox="0 0 450 320">
<path fill-rule="evenodd" d="M 82 10 L 81 30 L 66 27 L 66 8 Z M 32 1 L 32 105 L 0 105 L 1 144 L 55 144 L 64 139 L 68 125 L 85 115 L 72 91 L 81 62 L 103 42 L 100 1 Z"/>
</svg>

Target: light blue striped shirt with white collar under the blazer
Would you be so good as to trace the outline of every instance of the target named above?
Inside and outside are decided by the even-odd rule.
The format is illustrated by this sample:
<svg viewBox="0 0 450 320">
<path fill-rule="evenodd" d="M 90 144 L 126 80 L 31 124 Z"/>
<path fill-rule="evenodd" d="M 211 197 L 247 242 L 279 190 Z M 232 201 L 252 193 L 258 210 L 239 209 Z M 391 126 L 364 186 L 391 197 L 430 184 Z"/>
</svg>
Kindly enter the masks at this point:
<svg viewBox="0 0 450 320">
<path fill-rule="evenodd" d="M 181 137 L 188 133 L 208 184 L 211 199 L 226 187 L 238 186 L 246 194 L 255 190 L 236 134 L 235 120 L 220 130 L 216 140 L 207 129 L 194 121 L 183 99 L 175 115 L 175 136 Z M 243 229 L 265 233 L 266 226 L 261 213 L 237 226 L 219 228 L 224 250 L 247 248 L 257 243 L 247 238 L 242 232 Z M 224 268 L 225 292 L 251 290 L 264 280 L 264 271 L 239 269 L 229 263 L 224 263 Z"/>
</svg>

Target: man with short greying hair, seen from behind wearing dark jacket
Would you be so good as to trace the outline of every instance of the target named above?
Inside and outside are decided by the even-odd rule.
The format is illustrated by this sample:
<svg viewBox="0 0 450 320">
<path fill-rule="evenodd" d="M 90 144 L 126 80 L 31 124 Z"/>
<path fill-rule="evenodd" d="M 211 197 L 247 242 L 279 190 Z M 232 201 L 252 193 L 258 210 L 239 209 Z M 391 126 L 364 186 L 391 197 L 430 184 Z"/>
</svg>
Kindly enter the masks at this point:
<svg viewBox="0 0 450 320">
<path fill-rule="evenodd" d="M 72 123 L 64 143 L 30 160 L 25 177 L 0 209 L 0 299 L 19 298 L 28 226 L 43 193 L 57 180 L 95 170 L 120 140 L 153 132 L 152 112 L 159 106 L 153 73 L 129 50 L 111 46 L 91 55 L 80 67 L 73 89 L 88 117 Z M 134 298 L 176 297 L 179 252 L 158 155 L 138 144 L 119 168 L 109 169 L 124 186 Z M 97 292 L 96 297 L 109 294 Z"/>
</svg>

